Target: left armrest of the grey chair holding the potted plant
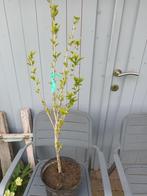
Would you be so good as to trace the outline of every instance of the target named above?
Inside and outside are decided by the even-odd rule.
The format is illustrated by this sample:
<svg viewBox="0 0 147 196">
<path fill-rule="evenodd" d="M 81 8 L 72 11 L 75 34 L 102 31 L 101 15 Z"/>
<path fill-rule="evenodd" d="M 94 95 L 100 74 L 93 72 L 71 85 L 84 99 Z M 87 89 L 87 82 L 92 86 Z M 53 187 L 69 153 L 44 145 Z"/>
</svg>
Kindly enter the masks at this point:
<svg viewBox="0 0 147 196">
<path fill-rule="evenodd" d="M 26 148 L 27 148 L 29 145 L 31 145 L 31 144 L 32 144 L 32 142 L 31 142 L 31 143 L 28 143 L 28 144 L 25 145 L 23 148 L 21 148 L 21 149 L 18 151 L 17 155 L 15 156 L 14 160 L 12 161 L 12 163 L 11 163 L 9 169 L 7 170 L 5 176 L 3 177 L 3 179 L 2 179 L 2 181 L 1 181 L 1 183 L 0 183 L 0 196 L 3 196 L 3 195 L 4 195 L 6 186 L 7 186 L 8 182 L 9 182 L 9 180 L 10 180 L 10 178 L 11 178 L 11 176 L 12 176 L 12 174 L 13 174 L 15 168 L 16 168 L 16 166 L 18 165 L 18 163 L 19 163 L 19 161 L 20 161 L 20 159 L 21 159 L 23 153 L 25 152 Z"/>
</svg>

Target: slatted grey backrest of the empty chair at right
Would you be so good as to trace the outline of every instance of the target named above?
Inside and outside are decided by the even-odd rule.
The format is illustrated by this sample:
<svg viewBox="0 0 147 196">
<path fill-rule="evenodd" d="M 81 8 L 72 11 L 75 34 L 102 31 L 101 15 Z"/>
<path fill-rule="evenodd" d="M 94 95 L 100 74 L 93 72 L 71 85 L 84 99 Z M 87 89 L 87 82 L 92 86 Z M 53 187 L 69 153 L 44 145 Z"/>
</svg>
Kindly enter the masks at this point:
<svg viewBox="0 0 147 196">
<path fill-rule="evenodd" d="M 122 124 L 121 155 L 125 162 L 147 163 L 147 114 L 129 114 L 125 117 Z"/>
</svg>

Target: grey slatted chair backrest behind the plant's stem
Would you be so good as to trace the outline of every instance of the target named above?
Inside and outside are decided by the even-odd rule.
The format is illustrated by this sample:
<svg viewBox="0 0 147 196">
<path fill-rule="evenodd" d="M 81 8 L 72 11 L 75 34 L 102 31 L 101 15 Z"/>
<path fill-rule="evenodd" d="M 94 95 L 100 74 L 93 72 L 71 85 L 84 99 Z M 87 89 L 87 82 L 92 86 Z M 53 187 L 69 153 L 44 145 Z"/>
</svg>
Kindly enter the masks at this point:
<svg viewBox="0 0 147 196">
<path fill-rule="evenodd" d="M 76 153 L 77 147 L 83 148 L 91 144 L 92 122 L 88 114 L 80 111 L 71 111 L 65 118 L 61 129 L 60 141 L 63 144 L 64 155 Z M 33 123 L 34 148 L 37 159 L 45 159 L 54 154 L 54 132 L 47 114 L 38 113 Z M 50 147 L 49 147 L 50 146 Z M 68 146 L 67 150 L 65 146 Z M 71 147 L 71 149 L 70 149 Z M 65 153 L 66 151 L 66 153 Z M 81 152 L 82 153 L 82 152 Z"/>
</svg>

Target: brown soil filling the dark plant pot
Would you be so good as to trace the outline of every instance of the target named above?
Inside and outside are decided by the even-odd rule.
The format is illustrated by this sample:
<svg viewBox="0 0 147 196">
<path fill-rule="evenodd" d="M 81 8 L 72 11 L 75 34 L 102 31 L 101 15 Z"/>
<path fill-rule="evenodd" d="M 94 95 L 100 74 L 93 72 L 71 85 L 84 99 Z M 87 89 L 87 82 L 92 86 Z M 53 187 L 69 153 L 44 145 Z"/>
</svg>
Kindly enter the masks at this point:
<svg viewBox="0 0 147 196">
<path fill-rule="evenodd" d="M 57 162 L 54 160 L 43 172 L 44 183 L 54 190 L 72 190 L 81 180 L 81 168 L 72 159 L 61 159 L 62 173 L 58 173 Z"/>
</svg>

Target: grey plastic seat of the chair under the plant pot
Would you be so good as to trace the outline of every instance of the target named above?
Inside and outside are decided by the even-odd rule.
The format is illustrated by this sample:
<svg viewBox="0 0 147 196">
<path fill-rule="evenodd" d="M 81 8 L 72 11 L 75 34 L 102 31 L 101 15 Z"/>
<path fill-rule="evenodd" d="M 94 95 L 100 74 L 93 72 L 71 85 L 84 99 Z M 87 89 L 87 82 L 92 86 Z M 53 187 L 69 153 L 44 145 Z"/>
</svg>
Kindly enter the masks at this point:
<svg viewBox="0 0 147 196">
<path fill-rule="evenodd" d="M 29 180 L 24 196 L 46 196 L 45 186 L 40 178 L 41 168 L 45 161 L 40 161 Z M 86 164 L 81 165 L 82 181 L 76 196 L 91 196 L 89 173 Z"/>
</svg>

